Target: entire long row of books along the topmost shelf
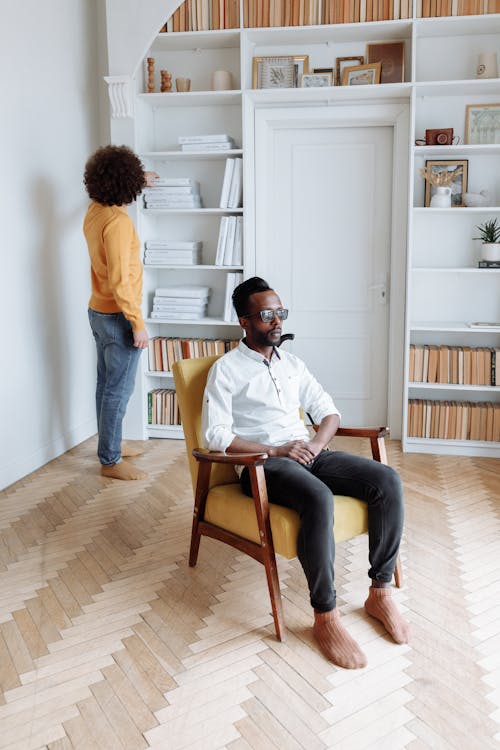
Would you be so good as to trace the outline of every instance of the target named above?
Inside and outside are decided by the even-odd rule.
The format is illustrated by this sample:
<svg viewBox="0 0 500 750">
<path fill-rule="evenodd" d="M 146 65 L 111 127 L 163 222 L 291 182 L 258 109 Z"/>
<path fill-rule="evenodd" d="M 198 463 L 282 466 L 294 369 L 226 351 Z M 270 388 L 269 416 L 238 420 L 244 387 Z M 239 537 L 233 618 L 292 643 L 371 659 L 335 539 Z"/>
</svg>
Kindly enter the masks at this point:
<svg viewBox="0 0 500 750">
<path fill-rule="evenodd" d="M 186 0 L 161 31 L 239 27 L 237 0 Z M 417 0 L 417 18 L 498 13 L 498 0 Z M 413 0 L 243 0 L 245 28 L 392 21 L 413 17 Z"/>
</svg>

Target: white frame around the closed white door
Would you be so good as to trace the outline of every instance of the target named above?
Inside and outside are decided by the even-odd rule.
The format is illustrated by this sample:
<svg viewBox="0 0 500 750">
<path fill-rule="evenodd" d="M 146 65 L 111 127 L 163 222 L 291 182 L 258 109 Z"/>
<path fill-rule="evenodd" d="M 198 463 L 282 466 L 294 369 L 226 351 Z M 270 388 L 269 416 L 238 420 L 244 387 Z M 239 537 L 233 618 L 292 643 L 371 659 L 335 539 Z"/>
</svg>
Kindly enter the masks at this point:
<svg viewBox="0 0 500 750">
<path fill-rule="evenodd" d="M 308 92 L 309 93 L 309 92 Z M 408 174 L 410 153 L 410 103 L 407 100 L 376 102 L 360 100 L 349 104 L 308 101 L 259 102 L 245 96 L 243 137 L 245 142 L 245 275 L 256 272 L 256 248 L 262 231 L 256 225 L 257 200 L 266 200 L 267 185 L 256 190 L 256 151 L 271 153 L 281 129 L 330 124 L 333 127 L 389 126 L 393 130 L 391 247 L 389 286 L 389 331 L 387 372 L 387 421 L 391 435 L 401 439 L 404 402 L 404 342 L 406 316 L 406 258 L 408 247 Z M 325 106 L 325 103 L 327 106 Z M 331 105 L 331 106 L 330 106 Z M 332 394 L 335 397 L 335 394 Z M 378 427 L 382 425 L 369 425 Z"/>
</svg>

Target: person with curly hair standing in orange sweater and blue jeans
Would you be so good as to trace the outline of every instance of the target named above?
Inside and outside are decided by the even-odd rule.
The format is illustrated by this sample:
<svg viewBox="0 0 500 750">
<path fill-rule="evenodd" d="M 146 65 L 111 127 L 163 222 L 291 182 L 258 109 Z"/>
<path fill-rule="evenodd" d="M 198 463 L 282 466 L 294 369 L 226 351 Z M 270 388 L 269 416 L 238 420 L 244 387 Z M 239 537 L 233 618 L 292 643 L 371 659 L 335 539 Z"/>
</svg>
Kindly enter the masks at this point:
<svg viewBox="0 0 500 750">
<path fill-rule="evenodd" d="M 126 146 L 99 148 L 87 161 L 84 184 L 91 203 L 83 231 L 92 279 L 89 321 L 97 346 L 96 408 L 101 474 L 113 479 L 145 479 L 147 474 L 122 455 L 122 421 L 134 390 L 137 365 L 148 345 L 141 314 L 140 243 L 126 206 L 155 173 L 144 171 Z"/>
</svg>

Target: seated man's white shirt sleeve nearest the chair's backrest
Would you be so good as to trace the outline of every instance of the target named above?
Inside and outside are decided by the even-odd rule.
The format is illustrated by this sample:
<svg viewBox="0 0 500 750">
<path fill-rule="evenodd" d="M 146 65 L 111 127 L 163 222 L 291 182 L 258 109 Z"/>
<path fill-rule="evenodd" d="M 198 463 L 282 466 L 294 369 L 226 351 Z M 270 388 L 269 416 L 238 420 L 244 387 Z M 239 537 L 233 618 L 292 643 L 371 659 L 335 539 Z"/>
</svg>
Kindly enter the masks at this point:
<svg viewBox="0 0 500 750">
<path fill-rule="evenodd" d="M 232 431 L 231 383 L 219 363 L 212 365 L 203 394 L 202 435 L 204 447 L 225 451 L 236 435 Z"/>
</svg>

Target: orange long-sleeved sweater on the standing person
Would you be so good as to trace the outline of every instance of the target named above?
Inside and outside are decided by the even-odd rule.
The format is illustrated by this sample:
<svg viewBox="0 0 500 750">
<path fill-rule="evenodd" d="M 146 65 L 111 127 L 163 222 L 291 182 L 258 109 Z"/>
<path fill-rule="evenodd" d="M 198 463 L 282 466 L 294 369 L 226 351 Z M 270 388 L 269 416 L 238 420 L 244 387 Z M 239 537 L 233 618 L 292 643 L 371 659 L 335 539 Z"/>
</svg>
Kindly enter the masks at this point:
<svg viewBox="0 0 500 750">
<path fill-rule="evenodd" d="M 127 209 L 92 202 L 83 232 L 92 277 L 89 307 L 103 313 L 122 312 L 134 331 L 143 330 L 140 242 Z"/>
</svg>

